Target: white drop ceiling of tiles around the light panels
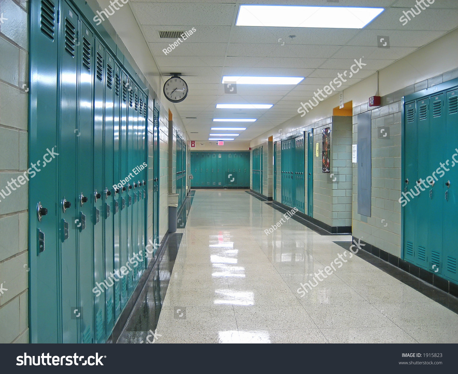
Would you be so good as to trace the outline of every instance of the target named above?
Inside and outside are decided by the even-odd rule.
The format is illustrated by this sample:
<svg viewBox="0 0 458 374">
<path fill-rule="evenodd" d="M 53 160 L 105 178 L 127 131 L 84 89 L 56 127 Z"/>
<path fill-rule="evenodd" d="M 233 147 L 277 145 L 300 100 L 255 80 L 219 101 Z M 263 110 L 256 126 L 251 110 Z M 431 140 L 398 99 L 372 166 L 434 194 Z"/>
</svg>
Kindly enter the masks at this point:
<svg viewBox="0 0 458 374">
<path fill-rule="evenodd" d="M 160 72 L 180 72 L 188 83 L 185 101 L 175 104 L 192 140 L 208 139 L 213 118 L 256 118 L 236 141 L 250 141 L 297 115 L 307 101 L 338 72 L 349 70 L 354 59 L 364 56 L 367 65 L 339 90 L 371 76 L 394 61 L 458 27 L 458 1 L 436 0 L 403 26 L 399 18 L 415 0 L 303 0 L 245 1 L 181 0 L 136 1 L 131 9 Z M 319 29 L 234 26 L 240 4 L 371 6 L 383 7 L 363 29 Z M 162 51 L 174 39 L 159 31 L 196 32 L 168 55 Z M 295 35 L 290 38 L 290 35 Z M 377 36 L 389 36 L 390 49 L 377 47 Z M 280 40 L 281 38 L 281 40 Z M 236 94 L 224 93 L 223 76 L 304 76 L 296 86 L 238 85 Z M 338 93 L 336 93 L 338 94 Z M 216 109 L 217 103 L 273 104 L 270 109 Z M 196 117 L 196 119 L 186 119 Z M 231 123 L 224 123 L 230 127 Z M 191 134 L 197 132 L 198 134 Z"/>
</svg>

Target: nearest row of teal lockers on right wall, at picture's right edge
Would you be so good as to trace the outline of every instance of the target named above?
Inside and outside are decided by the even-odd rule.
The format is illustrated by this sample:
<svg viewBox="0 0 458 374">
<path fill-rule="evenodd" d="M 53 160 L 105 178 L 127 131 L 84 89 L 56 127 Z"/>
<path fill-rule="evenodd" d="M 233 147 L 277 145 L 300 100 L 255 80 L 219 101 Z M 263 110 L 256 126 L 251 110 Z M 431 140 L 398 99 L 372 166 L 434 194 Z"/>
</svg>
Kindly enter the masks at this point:
<svg viewBox="0 0 458 374">
<path fill-rule="evenodd" d="M 458 86 L 412 96 L 404 104 L 399 200 L 404 260 L 458 283 Z"/>
</svg>

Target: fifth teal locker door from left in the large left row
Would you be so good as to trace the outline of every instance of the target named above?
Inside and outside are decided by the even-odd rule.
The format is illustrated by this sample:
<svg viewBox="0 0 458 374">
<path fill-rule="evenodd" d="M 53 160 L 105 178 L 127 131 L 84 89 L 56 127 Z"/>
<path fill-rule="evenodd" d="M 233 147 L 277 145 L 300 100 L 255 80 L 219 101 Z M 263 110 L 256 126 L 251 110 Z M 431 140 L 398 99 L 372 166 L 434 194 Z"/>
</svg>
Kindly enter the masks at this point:
<svg viewBox="0 0 458 374">
<path fill-rule="evenodd" d="M 105 51 L 104 57 L 105 73 L 105 121 L 104 121 L 104 190 L 102 200 L 104 201 L 104 277 L 109 287 L 105 290 L 105 325 L 107 336 L 114 327 L 114 280 L 111 273 L 114 271 L 114 194 L 113 194 L 113 142 L 114 142 L 114 60 Z"/>
</svg>

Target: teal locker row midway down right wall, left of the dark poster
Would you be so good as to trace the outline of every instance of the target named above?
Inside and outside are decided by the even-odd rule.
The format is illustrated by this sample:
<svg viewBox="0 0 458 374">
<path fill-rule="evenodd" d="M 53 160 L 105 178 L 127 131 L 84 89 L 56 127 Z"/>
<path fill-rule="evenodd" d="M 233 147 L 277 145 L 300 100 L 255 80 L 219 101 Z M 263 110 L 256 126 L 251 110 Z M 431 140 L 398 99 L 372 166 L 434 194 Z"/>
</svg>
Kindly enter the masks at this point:
<svg viewBox="0 0 458 374">
<path fill-rule="evenodd" d="M 282 140 L 281 146 L 282 204 L 313 217 L 313 129 L 307 134 Z M 308 154 L 307 168 L 305 152 Z"/>
</svg>

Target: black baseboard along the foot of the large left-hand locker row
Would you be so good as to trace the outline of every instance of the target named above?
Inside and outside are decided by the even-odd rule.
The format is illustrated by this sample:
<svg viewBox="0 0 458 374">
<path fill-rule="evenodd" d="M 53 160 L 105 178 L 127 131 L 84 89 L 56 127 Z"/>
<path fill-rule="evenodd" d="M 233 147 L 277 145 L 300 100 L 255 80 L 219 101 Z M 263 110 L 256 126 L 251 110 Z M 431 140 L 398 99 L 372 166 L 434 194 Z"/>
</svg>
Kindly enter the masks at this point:
<svg viewBox="0 0 458 374">
<path fill-rule="evenodd" d="M 133 291 L 133 293 L 131 294 L 131 297 L 127 301 L 127 304 L 125 305 L 124 310 L 122 311 L 121 315 L 119 316 L 118 320 L 116 321 L 113 332 L 109 336 L 107 343 L 115 343 L 116 341 L 118 341 L 122 331 L 124 330 L 125 326 L 127 325 L 127 321 L 129 320 L 132 310 L 140 294 L 142 293 L 143 287 L 145 287 L 148 277 L 150 276 L 151 272 L 154 269 L 157 269 L 157 267 L 159 266 L 160 260 L 162 256 L 164 255 L 164 251 L 167 248 L 166 243 L 168 239 L 169 239 L 169 233 L 166 233 L 164 235 L 164 238 L 161 241 L 161 244 L 159 245 L 158 251 L 156 252 L 156 256 L 153 257 L 153 259 L 148 264 L 146 271 L 143 272 L 142 277 L 140 278 L 137 286 L 135 287 L 135 290 Z"/>
</svg>

